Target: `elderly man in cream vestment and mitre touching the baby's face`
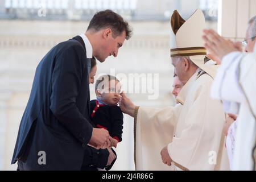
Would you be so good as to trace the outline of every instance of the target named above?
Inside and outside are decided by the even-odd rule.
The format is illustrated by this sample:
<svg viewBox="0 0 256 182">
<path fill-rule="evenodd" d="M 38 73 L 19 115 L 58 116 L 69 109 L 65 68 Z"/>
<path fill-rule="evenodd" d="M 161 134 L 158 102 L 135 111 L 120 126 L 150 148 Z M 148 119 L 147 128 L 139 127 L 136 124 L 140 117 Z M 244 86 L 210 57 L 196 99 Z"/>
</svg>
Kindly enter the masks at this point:
<svg viewBox="0 0 256 182">
<path fill-rule="evenodd" d="M 204 64 L 205 19 L 196 10 L 188 20 L 171 17 L 171 60 L 184 86 L 175 107 L 135 106 L 123 93 L 121 109 L 134 117 L 137 170 L 229 169 L 222 128 L 221 102 L 210 98 L 216 65 Z M 161 153 L 161 154 L 160 154 Z"/>
</svg>

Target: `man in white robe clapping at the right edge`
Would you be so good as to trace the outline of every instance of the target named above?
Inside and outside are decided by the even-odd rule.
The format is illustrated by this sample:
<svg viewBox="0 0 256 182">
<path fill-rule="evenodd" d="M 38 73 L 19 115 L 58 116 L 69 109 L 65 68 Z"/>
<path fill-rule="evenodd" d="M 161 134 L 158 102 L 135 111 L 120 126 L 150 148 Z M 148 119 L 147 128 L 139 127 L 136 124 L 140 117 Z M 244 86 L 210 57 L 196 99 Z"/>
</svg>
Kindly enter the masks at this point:
<svg viewBox="0 0 256 182">
<path fill-rule="evenodd" d="M 230 168 L 255 170 L 256 16 L 250 19 L 243 42 L 247 54 L 240 52 L 236 43 L 225 40 L 213 30 L 204 32 L 205 47 L 221 60 L 212 96 L 222 100 L 227 112 L 238 114 Z"/>
</svg>

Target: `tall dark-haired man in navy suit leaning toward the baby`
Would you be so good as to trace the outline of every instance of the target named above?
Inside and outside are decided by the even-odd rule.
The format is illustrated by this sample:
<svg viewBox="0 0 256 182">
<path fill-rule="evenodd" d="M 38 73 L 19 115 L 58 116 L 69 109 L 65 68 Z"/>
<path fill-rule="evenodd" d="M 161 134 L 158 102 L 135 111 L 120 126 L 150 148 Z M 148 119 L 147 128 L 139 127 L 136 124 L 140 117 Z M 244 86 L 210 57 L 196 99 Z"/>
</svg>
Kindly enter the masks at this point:
<svg viewBox="0 0 256 182">
<path fill-rule="evenodd" d="M 20 122 L 12 164 L 18 160 L 20 170 L 80 170 L 112 164 L 115 155 L 106 149 L 108 131 L 90 124 L 88 69 L 93 56 L 100 62 L 117 56 L 130 36 L 120 15 L 100 11 L 85 34 L 57 44 L 43 57 Z"/>
</svg>

